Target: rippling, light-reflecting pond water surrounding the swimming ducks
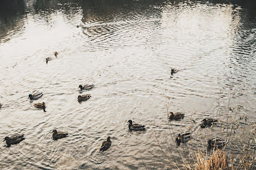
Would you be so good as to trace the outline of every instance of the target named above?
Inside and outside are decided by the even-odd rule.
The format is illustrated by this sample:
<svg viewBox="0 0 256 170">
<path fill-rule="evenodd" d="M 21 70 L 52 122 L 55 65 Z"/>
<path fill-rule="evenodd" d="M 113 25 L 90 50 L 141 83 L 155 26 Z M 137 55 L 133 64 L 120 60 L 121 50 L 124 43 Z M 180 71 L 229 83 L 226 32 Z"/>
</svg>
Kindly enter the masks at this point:
<svg viewBox="0 0 256 170">
<path fill-rule="evenodd" d="M 166 96 L 185 113 L 170 122 L 174 133 L 219 118 L 219 100 L 225 116 L 230 93 L 255 121 L 256 14 L 247 2 L 0 1 L 0 139 L 26 138 L 1 144 L 0 169 L 168 167 L 156 140 L 176 152 L 165 137 Z M 80 84 L 95 85 L 82 103 Z M 36 92 L 44 95 L 30 102 Z M 43 101 L 46 112 L 33 106 Z M 129 132 L 128 120 L 146 131 Z M 53 141 L 53 129 L 70 135 Z M 107 136 L 111 148 L 98 153 Z"/>
</svg>

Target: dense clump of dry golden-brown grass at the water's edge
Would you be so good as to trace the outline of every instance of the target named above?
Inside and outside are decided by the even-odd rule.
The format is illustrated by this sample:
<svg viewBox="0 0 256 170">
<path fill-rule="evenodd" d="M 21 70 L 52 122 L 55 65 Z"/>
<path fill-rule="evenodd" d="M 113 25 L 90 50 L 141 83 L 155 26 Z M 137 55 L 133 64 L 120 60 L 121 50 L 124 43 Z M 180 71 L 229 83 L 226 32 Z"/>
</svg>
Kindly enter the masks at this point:
<svg viewBox="0 0 256 170">
<path fill-rule="evenodd" d="M 196 167 L 195 170 L 228 170 L 227 155 L 225 151 L 217 149 L 209 159 L 207 156 L 199 152 L 196 155 Z"/>
</svg>

